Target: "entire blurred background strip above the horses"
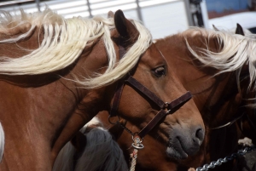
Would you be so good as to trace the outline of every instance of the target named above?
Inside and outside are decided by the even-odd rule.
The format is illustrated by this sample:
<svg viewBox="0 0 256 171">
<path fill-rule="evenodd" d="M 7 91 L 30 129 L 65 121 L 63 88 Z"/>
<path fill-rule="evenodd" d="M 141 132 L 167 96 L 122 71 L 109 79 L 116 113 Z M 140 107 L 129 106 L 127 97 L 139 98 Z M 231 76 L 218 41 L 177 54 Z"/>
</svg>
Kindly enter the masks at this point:
<svg viewBox="0 0 256 171">
<path fill-rule="evenodd" d="M 130 19 L 143 21 L 154 38 L 166 37 L 189 26 L 231 30 L 239 23 L 256 33 L 256 0 L 0 0 L 0 9 L 28 13 L 48 6 L 66 18 L 93 17 L 122 9 Z"/>
</svg>

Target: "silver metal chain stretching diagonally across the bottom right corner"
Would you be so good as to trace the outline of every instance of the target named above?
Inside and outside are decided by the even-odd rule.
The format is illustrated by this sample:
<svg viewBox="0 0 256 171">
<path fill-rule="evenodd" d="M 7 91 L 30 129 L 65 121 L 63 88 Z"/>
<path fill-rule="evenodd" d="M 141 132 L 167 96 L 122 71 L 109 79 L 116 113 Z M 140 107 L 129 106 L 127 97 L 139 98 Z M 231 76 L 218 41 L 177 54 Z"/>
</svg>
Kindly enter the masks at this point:
<svg viewBox="0 0 256 171">
<path fill-rule="evenodd" d="M 229 162 L 231 160 L 234 160 L 237 157 L 243 156 L 251 151 L 256 151 L 256 146 L 251 145 L 245 147 L 243 150 L 240 150 L 236 153 L 231 154 L 230 156 L 219 158 L 216 162 L 211 162 L 210 164 L 205 164 L 202 168 L 196 168 L 196 171 L 207 171 L 209 168 L 215 168 L 216 166 L 219 166 L 223 164 L 224 162 Z"/>
</svg>

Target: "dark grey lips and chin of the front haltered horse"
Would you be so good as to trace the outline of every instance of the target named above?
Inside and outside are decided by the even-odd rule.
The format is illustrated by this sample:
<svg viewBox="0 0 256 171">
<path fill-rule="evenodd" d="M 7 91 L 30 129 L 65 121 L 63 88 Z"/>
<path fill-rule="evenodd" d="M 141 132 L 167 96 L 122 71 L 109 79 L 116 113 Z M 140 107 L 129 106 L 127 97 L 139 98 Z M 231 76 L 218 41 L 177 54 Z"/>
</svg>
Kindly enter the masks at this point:
<svg viewBox="0 0 256 171">
<path fill-rule="evenodd" d="M 188 154 L 184 151 L 182 142 L 178 139 L 175 142 L 172 140 L 169 141 L 166 153 L 168 157 L 174 159 L 185 159 L 188 157 Z"/>
</svg>

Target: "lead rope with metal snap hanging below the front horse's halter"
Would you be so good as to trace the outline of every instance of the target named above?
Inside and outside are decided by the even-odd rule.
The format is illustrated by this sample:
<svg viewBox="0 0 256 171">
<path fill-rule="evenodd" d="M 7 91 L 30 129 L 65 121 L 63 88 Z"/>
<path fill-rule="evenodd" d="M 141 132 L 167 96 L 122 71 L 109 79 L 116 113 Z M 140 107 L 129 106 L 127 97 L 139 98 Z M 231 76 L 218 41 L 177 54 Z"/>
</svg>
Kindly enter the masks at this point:
<svg viewBox="0 0 256 171">
<path fill-rule="evenodd" d="M 133 137 L 132 137 L 133 139 Z M 142 144 L 142 140 L 140 140 L 140 138 L 138 136 L 135 137 L 135 139 L 133 139 L 133 143 L 131 144 L 134 148 L 133 152 L 130 155 L 130 171 L 135 171 L 135 167 L 137 164 L 137 152 L 138 150 L 141 150 L 144 148 L 143 144 Z"/>
</svg>

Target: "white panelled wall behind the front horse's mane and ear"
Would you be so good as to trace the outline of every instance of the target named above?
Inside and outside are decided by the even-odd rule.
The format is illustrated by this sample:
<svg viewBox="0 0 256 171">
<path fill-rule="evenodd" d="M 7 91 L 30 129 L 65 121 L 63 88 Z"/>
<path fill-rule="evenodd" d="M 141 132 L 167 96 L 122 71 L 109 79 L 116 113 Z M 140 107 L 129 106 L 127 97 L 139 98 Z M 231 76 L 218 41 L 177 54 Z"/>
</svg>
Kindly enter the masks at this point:
<svg viewBox="0 0 256 171">
<path fill-rule="evenodd" d="M 183 1 L 185 0 L 139 0 L 143 24 L 151 31 L 153 38 L 166 37 L 189 27 Z M 40 10 L 44 10 L 46 5 L 66 18 L 79 15 L 90 16 L 86 0 L 46 1 L 40 3 Z M 14 11 L 14 9 L 19 8 L 25 9 L 29 13 L 38 11 L 36 3 L 13 5 L 0 9 Z M 106 15 L 109 10 L 114 12 L 122 9 L 127 18 L 139 20 L 136 0 L 90 0 L 90 8 L 92 15 Z"/>
</svg>

